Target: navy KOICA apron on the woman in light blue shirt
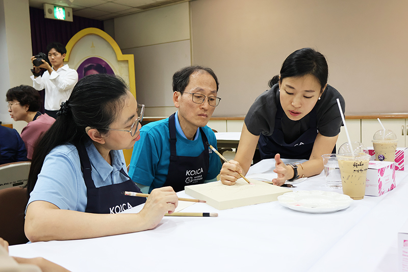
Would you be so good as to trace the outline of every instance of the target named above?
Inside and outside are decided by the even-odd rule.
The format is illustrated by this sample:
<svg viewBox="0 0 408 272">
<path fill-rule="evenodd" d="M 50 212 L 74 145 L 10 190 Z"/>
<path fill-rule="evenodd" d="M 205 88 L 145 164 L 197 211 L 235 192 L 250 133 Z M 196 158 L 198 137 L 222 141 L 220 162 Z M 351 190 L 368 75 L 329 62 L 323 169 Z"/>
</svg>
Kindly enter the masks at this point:
<svg viewBox="0 0 408 272">
<path fill-rule="evenodd" d="M 139 187 L 132 181 L 132 179 L 121 168 L 119 171 L 129 180 L 102 186 L 95 187 L 91 175 L 91 162 L 89 161 L 88 153 L 83 144 L 75 145 L 77 147 L 81 170 L 84 173 L 85 185 L 87 188 L 87 205 L 85 212 L 89 213 L 119 213 L 124 210 L 135 207 L 139 204 L 145 203 L 145 197 L 135 197 L 124 195 L 124 191 L 141 193 Z"/>
</svg>

